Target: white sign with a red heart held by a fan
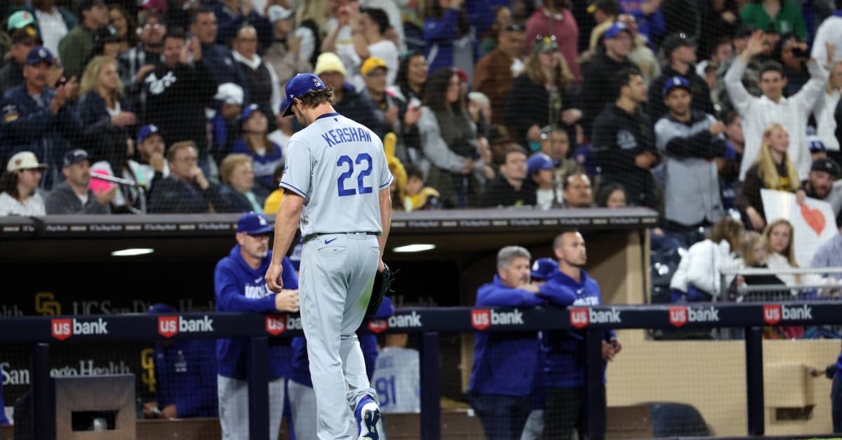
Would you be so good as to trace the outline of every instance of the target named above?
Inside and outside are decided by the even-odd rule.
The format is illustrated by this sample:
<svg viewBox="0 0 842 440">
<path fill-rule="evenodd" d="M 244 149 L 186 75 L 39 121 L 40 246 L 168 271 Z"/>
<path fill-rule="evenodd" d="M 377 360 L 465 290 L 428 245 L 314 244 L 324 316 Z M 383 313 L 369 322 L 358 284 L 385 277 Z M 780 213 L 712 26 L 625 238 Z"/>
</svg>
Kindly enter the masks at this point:
<svg viewBox="0 0 842 440">
<path fill-rule="evenodd" d="M 802 268 L 810 265 L 816 249 L 839 232 L 836 216 L 830 204 L 818 199 L 807 198 L 803 205 L 797 204 L 794 193 L 761 189 L 766 224 L 781 217 L 790 220 L 795 228 L 792 243 L 795 245 L 795 259 Z"/>
</svg>

